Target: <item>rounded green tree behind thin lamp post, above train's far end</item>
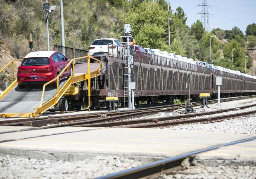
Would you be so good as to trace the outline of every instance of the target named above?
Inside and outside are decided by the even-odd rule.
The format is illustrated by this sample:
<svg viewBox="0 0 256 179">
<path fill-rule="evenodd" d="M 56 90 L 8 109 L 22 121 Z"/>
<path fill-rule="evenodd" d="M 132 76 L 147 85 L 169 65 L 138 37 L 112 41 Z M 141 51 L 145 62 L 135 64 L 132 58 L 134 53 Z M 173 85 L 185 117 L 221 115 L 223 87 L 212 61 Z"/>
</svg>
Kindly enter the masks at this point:
<svg viewBox="0 0 256 179">
<path fill-rule="evenodd" d="M 225 47 L 223 48 L 223 56 L 224 58 L 232 59 L 232 49 L 234 48 L 235 50 L 233 51 L 233 64 L 235 66 L 235 69 L 244 72 L 244 49 L 235 39 L 230 40 L 230 42 L 225 45 Z"/>
</svg>

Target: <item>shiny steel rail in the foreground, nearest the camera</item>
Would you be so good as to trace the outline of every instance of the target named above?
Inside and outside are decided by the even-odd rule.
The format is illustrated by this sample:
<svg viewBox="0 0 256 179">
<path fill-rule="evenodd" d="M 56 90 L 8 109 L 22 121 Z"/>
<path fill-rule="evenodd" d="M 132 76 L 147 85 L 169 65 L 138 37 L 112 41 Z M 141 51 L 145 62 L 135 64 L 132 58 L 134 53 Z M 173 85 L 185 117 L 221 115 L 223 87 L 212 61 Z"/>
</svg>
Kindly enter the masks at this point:
<svg viewBox="0 0 256 179">
<path fill-rule="evenodd" d="M 168 174 L 168 173 L 170 173 L 171 170 L 177 169 L 177 167 L 179 167 L 181 165 L 182 161 L 185 158 L 191 157 L 193 155 L 197 155 L 199 153 L 215 150 L 220 147 L 231 146 L 231 145 L 235 145 L 235 144 L 239 144 L 239 143 L 243 143 L 243 142 L 252 141 L 255 139 L 256 139 L 256 137 L 250 137 L 247 139 L 241 139 L 241 140 L 232 141 L 232 142 L 225 143 L 225 144 L 211 146 L 209 148 L 204 148 L 201 150 L 184 153 L 181 155 L 177 155 L 175 157 L 159 160 L 159 161 L 156 161 L 153 163 L 134 167 L 134 168 L 124 170 L 121 172 L 116 172 L 114 174 L 108 174 L 103 177 L 99 177 L 97 179 L 138 179 L 138 178 L 142 178 L 142 177 L 152 177 L 152 175 L 154 175 L 154 177 L 157 177 L 157 176 L 155 176 L 156 174 L 158 174 L 158 176 L 161 173 Z"/>
</svg>

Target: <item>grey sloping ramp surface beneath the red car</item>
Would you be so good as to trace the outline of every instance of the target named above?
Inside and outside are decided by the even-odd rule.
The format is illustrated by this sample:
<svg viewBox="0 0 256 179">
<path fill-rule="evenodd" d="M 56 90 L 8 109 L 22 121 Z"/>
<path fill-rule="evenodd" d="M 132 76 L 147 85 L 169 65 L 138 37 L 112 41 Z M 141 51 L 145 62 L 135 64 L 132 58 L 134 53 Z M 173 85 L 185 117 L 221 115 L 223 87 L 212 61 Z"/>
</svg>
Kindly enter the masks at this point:
<svg viewBox="0 0 256 179">
<path fill-rule="evenodd" d="M 66 79 L 62 80 L 59 87 L 62 87 Z M 1 101 L 0 113 L 33 113 L 35 107 L 40 106 L 43 85 L 26 85 L 24 89 L 14 87 Z M 43 103 L 52 99 L 57 93 L 53 85 L 45 87 Z"/>
</svg>

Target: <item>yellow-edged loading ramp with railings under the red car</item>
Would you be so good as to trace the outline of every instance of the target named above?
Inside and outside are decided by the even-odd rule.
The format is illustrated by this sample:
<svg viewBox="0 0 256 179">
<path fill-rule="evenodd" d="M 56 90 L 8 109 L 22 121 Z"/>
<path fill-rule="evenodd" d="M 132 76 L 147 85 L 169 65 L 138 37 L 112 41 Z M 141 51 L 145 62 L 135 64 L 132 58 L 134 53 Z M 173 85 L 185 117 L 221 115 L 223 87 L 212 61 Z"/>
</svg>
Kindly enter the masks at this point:
<svg viewBox="0 0 256 179">
<path fill-rule="evenodd" d="M 76 68 L 74 65 L 75 60 L 79 59 L 88 59 L 88 67 L 87 73 L 76 73 Z M 99 64 L 97 68 L 94 68 L 90 71 L 90 59 L 98 61 Z M 14 61 L 22 61 L 23 59 L 13 60 L 9 64 L 7 64 L 1 71 L 4 71 L 9 65 L 12 64 L 12 78 L 13 75 L 13 63 Z M 73 68 L 73 76 L 70 76 L 67 80 L 59 81 L 57 80 L 66 69 L 72 66 Z M 99 75 L 102 70 L 101 61 L 95 59 L 94 57 L 90 57 L 89 54 L 86 57 L 79 57 L 71 59 L 69 64 L 59 73 L 59 75 L 45 83 L 43 85 L 43 89 L 38 89 L 37 87 L 28 87 L 24 90 L 19 89 L 17 86 L 17 80 L 14 80 L 9 87 L 0 94 L 0 118 L 25 118 L 25 117 L 33 117 L 42 114 L 47 111 L 47 109 L 51 108 L 58 104 L 59 99 L 65 94 L 69 87 L 76 82 L 81 82 L 84 80 L 88 80 L 91 78 L 95 78 Z M 52 87 L 53 85 L 49 85 L 52 82 L 57 82 L 57 88 Z M 90 86 L 90 80 L 88 80 L 88 86 Z M 14 98 L 14 100 L 12 100 Z M 90 88 L 88 89 L 88 107 L 90 108 Z"/>
</svg>

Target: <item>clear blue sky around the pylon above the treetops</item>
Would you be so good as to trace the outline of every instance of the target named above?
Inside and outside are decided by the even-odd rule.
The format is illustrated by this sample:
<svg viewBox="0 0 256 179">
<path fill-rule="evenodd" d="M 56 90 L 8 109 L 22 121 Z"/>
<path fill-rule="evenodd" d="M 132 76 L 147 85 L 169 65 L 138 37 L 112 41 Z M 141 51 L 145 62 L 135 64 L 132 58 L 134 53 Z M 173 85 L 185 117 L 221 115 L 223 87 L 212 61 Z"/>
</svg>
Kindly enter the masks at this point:
<svg viewBox="0 0 256 179">
<path fill-rule="evenodd" d="M 167 1 L 167 0 L 166 0 Z M 172 10 L 182 7 L 187 14 L 187 25 L 191 26 L 197 19 L 201 20 L 202 0 L 169 0 Z M 210 29 L 231 30 L 237 26 L 243 33 L 248 24 L 256 23 L 256 0 L 208 0 Z M 212 15 L 211 15 L 212 14 Z"/>
</svg>

